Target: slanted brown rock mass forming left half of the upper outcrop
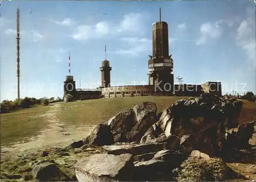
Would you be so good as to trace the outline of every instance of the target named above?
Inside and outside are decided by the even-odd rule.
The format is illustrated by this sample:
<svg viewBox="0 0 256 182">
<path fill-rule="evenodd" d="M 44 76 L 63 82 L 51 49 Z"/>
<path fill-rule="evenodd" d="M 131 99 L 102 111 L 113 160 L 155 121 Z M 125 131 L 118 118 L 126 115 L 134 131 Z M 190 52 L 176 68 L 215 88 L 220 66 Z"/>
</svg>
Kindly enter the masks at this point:
<svg viewBox="0 0 256 182">
<path fill-rule="evenodd" d="M 157 118 L 157 105 L 143 102 L 119 112 L 108 122 L 95 127 L 83 144 L 111 145 L 116 142 L 140 142 L 141 137 Z"/>
</svg>

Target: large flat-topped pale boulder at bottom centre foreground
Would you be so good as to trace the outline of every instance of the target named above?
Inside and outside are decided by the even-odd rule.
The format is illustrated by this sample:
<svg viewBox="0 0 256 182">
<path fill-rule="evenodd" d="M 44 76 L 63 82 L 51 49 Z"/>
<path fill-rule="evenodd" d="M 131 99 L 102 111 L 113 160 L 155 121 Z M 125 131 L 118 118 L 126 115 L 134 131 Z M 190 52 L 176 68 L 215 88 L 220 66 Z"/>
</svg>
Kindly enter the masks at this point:
<svg viewBox="0 0 256 182">
<path fill-rule="evenodd" d="M 78 161 L 78 181 L 132 181 L 134 164 L 131 154 L 95 154 Z"/>
</svg>

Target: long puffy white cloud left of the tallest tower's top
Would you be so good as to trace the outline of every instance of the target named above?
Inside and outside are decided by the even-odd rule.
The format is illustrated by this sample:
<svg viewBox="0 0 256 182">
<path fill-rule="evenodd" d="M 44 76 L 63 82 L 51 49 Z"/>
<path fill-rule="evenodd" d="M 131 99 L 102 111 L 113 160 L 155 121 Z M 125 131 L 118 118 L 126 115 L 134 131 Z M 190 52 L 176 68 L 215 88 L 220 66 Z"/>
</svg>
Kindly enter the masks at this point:
<svg viewBox="0 0 256 182">
<path fill-rule="evenodd" d="M 95 25 L 80 25 L 71 35 L 76 40 L 88 40 L 120 33 L 143 33 L 143 15 L 139 13 L 125 14 L 118 24 L 101 21 Z"/>
</svg>

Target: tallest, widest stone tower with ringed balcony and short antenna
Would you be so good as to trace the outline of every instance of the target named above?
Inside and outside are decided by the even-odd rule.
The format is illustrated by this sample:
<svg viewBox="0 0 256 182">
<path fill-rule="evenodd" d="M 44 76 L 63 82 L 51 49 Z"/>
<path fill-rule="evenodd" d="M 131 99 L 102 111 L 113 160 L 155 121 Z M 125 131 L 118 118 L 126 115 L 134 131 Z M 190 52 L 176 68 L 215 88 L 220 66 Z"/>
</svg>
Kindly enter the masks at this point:
<svg viewBox="0 0 256 182">
<path fill-rule="evenodd" d="M 168 24 L 160 19 L 153 24 L 153 55 L 148 55 L 148 84 L 156 94 L 171 95 L 174 89 L 173 59 L 169 55 Z"/>
</svg>

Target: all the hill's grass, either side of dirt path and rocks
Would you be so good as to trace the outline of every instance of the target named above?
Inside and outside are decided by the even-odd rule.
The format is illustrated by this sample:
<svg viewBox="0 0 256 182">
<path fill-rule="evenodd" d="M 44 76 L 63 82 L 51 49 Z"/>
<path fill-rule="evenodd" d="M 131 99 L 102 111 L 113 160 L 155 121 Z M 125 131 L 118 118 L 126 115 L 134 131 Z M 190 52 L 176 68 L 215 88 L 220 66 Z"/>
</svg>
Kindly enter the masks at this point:
<svg viewBox="0 0 256 182">
<path fill-rule="evenodd" d="M 60 105 L 57 117 L 67 126 L 95 125 L 110 119 L 119 111 L 133 108 L 135 104 L 150 101 L 158 106 L 158 112 L 179 99 L 188 97 L 127 97 L 111 99 L 84 100 L 70 103 L 55 103 Z M 20 109 L 11 113 L 1 114 L 1 145 L 23 141 L 32 137 L 49 124 L 44 114 L 50 106 L 37 106 Z M 256 119 L 256 103 L 244 101 L 240 121 Z"/>
</svg>

